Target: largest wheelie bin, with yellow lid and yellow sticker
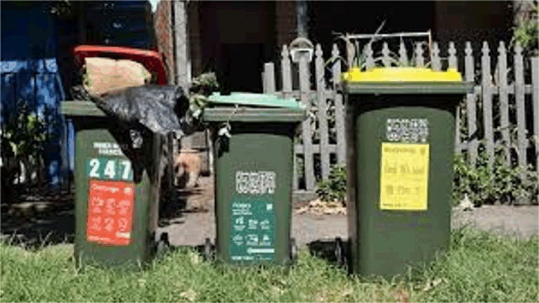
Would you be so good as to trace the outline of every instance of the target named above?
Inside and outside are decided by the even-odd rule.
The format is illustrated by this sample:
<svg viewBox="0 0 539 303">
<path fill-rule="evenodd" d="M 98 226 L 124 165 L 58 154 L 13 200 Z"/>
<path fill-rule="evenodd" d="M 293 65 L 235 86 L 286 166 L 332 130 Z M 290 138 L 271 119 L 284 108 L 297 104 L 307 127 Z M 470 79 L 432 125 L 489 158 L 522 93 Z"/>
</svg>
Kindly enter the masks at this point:
<svg viewBox="0 0 539 303">
<path fill-rule="evenodd" d="M 349 271 L 389 278 L 430 262 L 450 236 L 456 70 L 351 70 L 346 105 Z"/>
</svg>

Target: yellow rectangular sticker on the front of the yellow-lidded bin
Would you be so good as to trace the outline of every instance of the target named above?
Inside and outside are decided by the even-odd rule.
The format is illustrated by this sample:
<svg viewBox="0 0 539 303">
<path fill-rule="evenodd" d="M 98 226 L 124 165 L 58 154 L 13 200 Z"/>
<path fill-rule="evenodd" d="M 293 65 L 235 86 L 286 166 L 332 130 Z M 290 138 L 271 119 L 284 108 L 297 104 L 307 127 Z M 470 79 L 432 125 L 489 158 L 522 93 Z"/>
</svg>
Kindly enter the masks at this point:
<svg viewBox="0 0 539 303">
<path fill-rule="evenodd" d="M 426 210 L 429 144 L 382 143 L 380 209 Z"/>
</svg>

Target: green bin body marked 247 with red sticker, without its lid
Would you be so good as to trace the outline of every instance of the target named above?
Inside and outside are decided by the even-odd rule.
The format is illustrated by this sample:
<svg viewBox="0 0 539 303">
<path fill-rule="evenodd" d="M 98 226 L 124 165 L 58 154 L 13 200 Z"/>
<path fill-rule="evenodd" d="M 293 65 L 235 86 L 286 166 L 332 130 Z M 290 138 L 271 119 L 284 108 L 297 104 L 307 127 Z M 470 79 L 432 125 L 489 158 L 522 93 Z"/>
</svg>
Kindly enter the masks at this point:
<svg viewBox="0 0 539 303">
<path fill-rule="evenodd" d="M 75 243 L 78 266 L 138 269 L 155 253 L 162 136 L 122 129 L 91 101 L 64 101 L 75 124 Z"/>
</svg>

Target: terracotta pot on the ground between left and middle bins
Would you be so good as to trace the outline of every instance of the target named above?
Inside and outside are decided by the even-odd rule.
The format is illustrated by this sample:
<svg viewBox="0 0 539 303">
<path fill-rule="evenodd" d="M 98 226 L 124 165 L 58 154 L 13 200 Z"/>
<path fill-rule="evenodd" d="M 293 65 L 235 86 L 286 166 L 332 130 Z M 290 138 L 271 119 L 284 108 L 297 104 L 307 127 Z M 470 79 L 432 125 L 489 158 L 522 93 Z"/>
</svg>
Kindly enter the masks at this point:
<svg viewBox="0 0 539 303">
<path fill-rule="evenodd" d="M 181 150 L 174 157 L 174 172 L 180 188 L 195 188 L 200 176 L 201 158 L 198 150 Z"/>
</svg>

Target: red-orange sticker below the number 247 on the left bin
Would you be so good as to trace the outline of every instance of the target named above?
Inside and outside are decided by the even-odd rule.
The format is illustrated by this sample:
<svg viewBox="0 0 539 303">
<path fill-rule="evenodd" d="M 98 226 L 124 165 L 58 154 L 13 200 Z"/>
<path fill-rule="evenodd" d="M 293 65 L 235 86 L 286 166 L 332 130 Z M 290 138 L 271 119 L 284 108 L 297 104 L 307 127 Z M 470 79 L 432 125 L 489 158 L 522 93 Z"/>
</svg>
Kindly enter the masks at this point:
<svg viewBox="0 0 539 303">
<path fill-rule="evenodd" d="M 135 202 L 132 182 L 90 180 L 86 240 L 104 245 L 129 245 Z"/>
</svg>

